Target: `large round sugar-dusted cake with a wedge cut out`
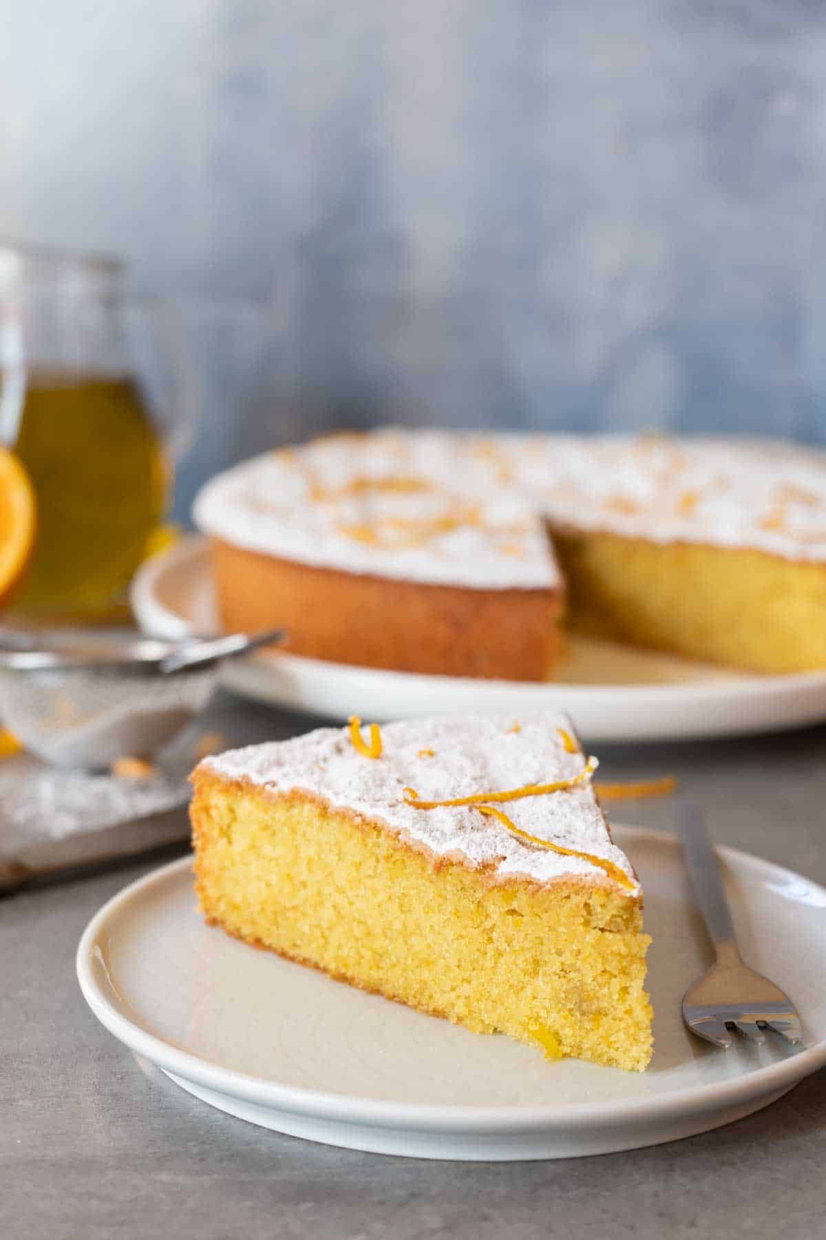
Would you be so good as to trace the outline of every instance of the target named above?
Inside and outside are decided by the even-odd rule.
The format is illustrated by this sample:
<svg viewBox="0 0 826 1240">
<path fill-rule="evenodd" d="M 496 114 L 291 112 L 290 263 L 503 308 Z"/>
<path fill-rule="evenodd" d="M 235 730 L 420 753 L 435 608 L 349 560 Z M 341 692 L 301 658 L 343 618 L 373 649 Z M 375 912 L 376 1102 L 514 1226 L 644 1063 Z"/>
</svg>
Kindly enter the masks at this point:
<svg viewBox="0 0 826 1240">
<path fill-rule="evenodd" d="M 572 629 L 826 666 L 826 465 L 791 444 L 381 429 L 218 475 L 222 622 L 297 653 L 545 680 Z"/>
</svg>

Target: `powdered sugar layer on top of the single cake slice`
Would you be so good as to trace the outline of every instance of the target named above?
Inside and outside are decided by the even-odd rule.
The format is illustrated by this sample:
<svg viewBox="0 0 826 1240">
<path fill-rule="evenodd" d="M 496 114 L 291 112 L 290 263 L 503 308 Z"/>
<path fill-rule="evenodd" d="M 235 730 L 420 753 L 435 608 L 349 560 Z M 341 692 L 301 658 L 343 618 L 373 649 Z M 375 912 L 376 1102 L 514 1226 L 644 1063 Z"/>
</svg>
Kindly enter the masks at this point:
<svg viewBox="0 0 826 1240">
<path fill-rule="evenodd" d="M 549 882 L 577 874 L 604 882 L 599 867 L 521 841 L 473 806 L 417 810 L 405 804 L 405 787 L 415 789 L 424 801 L 443 801 L 571 779 L 582 770 L 585 755 L 566 751 L 559 728 L 575 735 L 570 719 L 556 713 L 519 720 L 513 715 L 405 720 L 381 728 L 378 759 L 355 750 L 348 728 L 320 728 L 291 740 L 229 750 L 204 759 L 202 766 L 276 792 L 312 792 L 337 808 L 378 818 L 438 856 L 493 864 L 499 877 L 524 874 Z M 420 756 L 422 749 L 432 749 L 435 756 Z M 521 831 L 611 861 L 633 878 L 628 858 L 611 842 L 589 781 L 497 807 Z"/>
</svg>

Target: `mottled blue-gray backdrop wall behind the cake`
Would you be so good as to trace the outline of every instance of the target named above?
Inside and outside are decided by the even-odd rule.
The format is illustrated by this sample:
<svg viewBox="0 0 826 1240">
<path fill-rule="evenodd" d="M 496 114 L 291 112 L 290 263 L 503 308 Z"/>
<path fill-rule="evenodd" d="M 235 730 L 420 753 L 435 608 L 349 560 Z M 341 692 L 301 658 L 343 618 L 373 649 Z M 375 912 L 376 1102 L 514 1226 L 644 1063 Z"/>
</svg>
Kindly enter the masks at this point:
<svg viewBox="0 0 826 1240">
<path fill-rule="evenodd" d="M 186 305 L 178 505 L 326 425 L 826 439 L 821 0 L 0 0 L 0 231 Z"/>
</svg>

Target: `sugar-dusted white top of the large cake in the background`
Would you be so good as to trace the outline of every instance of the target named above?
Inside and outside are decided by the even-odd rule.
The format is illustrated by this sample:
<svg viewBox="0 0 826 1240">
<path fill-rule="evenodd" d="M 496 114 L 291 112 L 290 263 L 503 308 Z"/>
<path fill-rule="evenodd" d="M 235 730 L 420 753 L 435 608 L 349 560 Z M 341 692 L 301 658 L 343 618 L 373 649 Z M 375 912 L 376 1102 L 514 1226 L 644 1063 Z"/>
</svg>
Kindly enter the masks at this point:
<svg viewBox="0 0 826 1240">
<path fill-rule="evenodd" d="M 201 529 L 265 554 L 479 589 L 559 583 L 542 518 L 826 559 L 826 459 L 772 441 L 384 429 L 246 461 L 194 505 Z"/>
</svg>

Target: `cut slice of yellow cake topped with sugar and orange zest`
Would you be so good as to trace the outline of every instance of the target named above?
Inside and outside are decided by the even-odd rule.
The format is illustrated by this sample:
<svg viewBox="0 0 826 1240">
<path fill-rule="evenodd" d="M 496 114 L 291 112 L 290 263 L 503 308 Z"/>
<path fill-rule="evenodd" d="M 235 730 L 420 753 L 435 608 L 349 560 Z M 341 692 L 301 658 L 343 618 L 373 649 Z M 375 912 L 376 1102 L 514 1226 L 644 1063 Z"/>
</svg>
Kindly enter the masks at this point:
<svg viewBox="0 0 826 1240">
<path fill-rule="evenodd" d="M 322 728 L 193 774 L 208 921 L 549 1058 L 641 1070 L 643 898 L 563 715 Z"/>
</svg>

